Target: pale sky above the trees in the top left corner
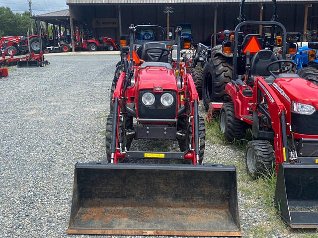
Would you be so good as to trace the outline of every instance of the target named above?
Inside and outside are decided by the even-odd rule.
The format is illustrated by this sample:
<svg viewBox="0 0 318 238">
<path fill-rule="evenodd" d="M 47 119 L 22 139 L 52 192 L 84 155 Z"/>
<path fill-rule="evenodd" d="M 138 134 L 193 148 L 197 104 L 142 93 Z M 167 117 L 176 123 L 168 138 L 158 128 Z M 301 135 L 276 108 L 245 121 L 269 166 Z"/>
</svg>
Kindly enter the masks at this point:
<svg viewBox="0 0 318 238">
<path fill-rule="evenodd" d="M 66 0 L 31 0 L 31 2 L 33 15 L 69 8 Z M 13 12 L 29 11 L 28 0 L 0 0 L 0 6 L 8 6 Z"/>
</svg>

